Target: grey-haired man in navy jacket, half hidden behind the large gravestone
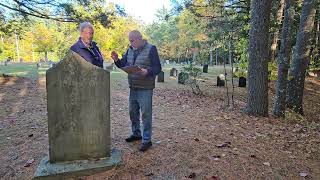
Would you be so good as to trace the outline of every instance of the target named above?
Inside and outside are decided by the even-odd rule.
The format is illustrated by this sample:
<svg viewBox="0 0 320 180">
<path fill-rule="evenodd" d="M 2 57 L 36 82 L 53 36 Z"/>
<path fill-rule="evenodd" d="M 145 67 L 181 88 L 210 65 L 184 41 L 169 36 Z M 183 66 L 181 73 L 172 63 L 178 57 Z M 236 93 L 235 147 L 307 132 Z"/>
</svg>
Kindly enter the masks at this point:
<svg viewBox="0 0 320 180">
<path fill-rule="evenodd" d="M 78 53 L 86 61 L 103 68 L 103 57 L 93 39 L 93 26 L 89 22 L 83 22 L 79 26 L 79 40 L 71 46 L 71 50 Z"/>
</svg>

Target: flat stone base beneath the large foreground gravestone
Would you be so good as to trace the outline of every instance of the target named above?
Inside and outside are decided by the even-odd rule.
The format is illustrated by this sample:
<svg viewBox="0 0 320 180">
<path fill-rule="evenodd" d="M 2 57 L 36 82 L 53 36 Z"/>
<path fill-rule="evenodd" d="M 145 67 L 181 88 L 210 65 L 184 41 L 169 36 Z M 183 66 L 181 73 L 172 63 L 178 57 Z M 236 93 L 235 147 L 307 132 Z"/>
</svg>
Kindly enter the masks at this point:
<svg viewBox="0 0 320 180">
<path fill-rule="evenodd" d="M 33 179 L 66 179 L 77 176 L 92 175 L 109 170 L 122 162 L 119 150 L 112 149 L 111 156 L 98 160 L 78 160 L 68 162 L 50 163 L 46 156 L 40 161 Z"/>
</svg>

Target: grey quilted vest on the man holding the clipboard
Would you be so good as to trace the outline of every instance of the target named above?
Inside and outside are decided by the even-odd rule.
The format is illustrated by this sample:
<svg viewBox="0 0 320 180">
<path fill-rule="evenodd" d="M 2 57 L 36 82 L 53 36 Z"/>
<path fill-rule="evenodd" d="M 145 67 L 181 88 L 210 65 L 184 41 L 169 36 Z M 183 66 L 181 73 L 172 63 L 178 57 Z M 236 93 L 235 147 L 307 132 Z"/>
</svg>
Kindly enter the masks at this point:
<svg viewBox="0 0 320 180">
<path fill-rule="evenodd" d="M 132 48 L 128 49 L 127 62 L 130 65 L 136 65 L 145 69 L 151 68 L 151 60 L 149 58 L 150 50 L 153 45 L 145 43 L 142 49 L 138 51 L 138 56 L 134 61 L 134 50 Z M 141 75 L 128 74 L 129 87 L 133 89 L 154 89 L 155 87 L 155 77 L 147 76 L 143 77 Z"/>
</svg>

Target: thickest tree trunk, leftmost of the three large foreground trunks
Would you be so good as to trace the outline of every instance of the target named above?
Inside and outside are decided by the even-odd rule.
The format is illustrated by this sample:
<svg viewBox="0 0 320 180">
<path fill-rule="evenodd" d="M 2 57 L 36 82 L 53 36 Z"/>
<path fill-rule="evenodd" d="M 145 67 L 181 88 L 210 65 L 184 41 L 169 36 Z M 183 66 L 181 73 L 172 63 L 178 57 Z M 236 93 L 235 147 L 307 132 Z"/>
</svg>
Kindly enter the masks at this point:
<svg viewBox="0 0 320 180">
<path fill-rule="evenodd" d="M 249 32 L 248 102 L 247 113 L 268 116 L 268 56 L 270 0 L 251 2 Z"/>
</svg>

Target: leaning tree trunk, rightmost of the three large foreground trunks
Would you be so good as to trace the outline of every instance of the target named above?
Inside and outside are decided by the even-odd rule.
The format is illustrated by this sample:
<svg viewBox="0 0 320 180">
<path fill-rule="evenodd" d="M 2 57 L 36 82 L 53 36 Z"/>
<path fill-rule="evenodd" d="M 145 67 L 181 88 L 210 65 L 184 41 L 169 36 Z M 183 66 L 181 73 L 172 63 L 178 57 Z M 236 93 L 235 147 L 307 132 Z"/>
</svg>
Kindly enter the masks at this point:
<svg viewBox="0 0 320 180">
<path fill-rule="evenodd" d="M 310 38 L 314 25 L 316 0 L 304 0 L 293 61 L 289 72 L 287 107 L 303 114 L 302 100 L 306 69 L 310 58 Z"/>
</svg>

